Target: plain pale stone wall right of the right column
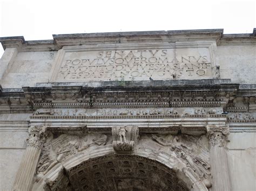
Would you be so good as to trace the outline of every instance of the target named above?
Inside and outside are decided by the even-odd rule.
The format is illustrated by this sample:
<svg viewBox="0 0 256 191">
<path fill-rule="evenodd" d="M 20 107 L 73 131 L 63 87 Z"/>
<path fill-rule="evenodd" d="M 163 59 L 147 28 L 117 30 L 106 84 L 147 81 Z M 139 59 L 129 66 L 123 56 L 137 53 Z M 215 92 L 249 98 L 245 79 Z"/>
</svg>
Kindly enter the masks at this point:
<svg viewBox="0 0 256 191">
<path fill-rule="evenodd" d="M 232 190 L 256 190 L 256 133 L 230 133 L 228 169 Z"/>
</svg>

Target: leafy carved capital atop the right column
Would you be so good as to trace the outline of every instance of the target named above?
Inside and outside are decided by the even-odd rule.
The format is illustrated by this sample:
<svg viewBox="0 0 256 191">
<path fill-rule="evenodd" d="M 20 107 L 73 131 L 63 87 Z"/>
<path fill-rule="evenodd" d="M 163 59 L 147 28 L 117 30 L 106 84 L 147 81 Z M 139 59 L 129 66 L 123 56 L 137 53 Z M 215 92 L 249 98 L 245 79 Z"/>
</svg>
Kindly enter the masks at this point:
<svg viewBox="0 0 256 191">
<path fill-rule="evenodd" d="M 206 125 L 207 137 L 211 146 L 225 146 L 226 139 L 230 133 L 227 125 Z"/>
</svg>

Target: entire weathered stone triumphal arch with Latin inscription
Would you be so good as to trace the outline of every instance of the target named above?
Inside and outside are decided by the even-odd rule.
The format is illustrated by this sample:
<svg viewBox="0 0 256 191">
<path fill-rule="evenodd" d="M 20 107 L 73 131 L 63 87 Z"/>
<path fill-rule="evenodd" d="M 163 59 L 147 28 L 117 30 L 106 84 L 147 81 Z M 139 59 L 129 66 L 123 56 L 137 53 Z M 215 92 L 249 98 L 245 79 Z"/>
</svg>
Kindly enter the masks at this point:
<svg viewBox="0 0 256 191">
<path fill-rule="evenodd" d="M 0 38 L 0 189 L 256 190 L 255 34 Z"/>
</svg>

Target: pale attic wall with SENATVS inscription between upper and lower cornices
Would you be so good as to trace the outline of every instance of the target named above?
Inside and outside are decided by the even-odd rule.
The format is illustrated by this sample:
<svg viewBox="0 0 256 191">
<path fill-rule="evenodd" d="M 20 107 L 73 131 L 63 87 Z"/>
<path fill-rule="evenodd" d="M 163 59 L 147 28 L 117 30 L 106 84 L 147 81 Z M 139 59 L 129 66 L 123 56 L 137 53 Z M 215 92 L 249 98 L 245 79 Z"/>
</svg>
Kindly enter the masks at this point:
<svg viewBox="0 0 256 191">
<path fill-rule="evenodd" d="M 6 56 L 2 58 L 2 64 L 6 62 L 5 57 L 9 60 L 5 64 L 6 69 L 2 68 L 4 71 L 1 73 L 4 75 L 0 83 L 4 88 L 21 88 L 35 86 L 35 83 L 46 83 L 50 80 L 130 81 L 149 80 L 150 77 L 153 80 L 207 79 L 214 77 L 215 72 L 212 68 L 216 65 L 220 66 L 220 77 L 223 79 L 231 79 L 235 83 L 256 82 L 253 77 L 256 63 L 255 46 L 221 45 L 215 49 L 217 51 L 200 47 L 167 49 L 156 46 L 155 49 L 126 49 L 126 51 L 114 51 L 113 49 L 65 51 L 59 59 L 55 60 L 55 65 L 58 65 L 55 69 L 52 68 L 52 64 L 56 58 L 56 51 L 19 52 L 16 53 L 17 56 L 12 53 L 11 55 L 16 56 L 14 58 L 10 56 L 9 58 L 6 53 Z M 120 55 L 122 51 L 123 55 Z M 161 60 L 165 58 L 171 63 L 167 63 L 167 60 L 161 63 Z M 177 58 L 178 65 L 173 60 L 174 58 Z M 196 67 L 199 63 L 205 64 L 203 69 Z M 53 76 L 51 69 L 54 70 Z"/>
</svg>

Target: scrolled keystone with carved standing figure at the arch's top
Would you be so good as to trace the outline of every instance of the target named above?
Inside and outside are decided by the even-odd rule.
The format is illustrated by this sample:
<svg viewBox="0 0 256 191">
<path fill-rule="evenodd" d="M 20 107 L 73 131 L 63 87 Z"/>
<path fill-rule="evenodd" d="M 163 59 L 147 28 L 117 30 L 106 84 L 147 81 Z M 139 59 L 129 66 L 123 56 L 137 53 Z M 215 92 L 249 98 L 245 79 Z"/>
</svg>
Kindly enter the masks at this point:
<svg viewBox="0 0 256 191">
<path fill-rule="evenodd" d="M 138 126 L 113 126 L 113 148 L 115 151 L 133 151 L 139 140 Z"/>
</svg>

